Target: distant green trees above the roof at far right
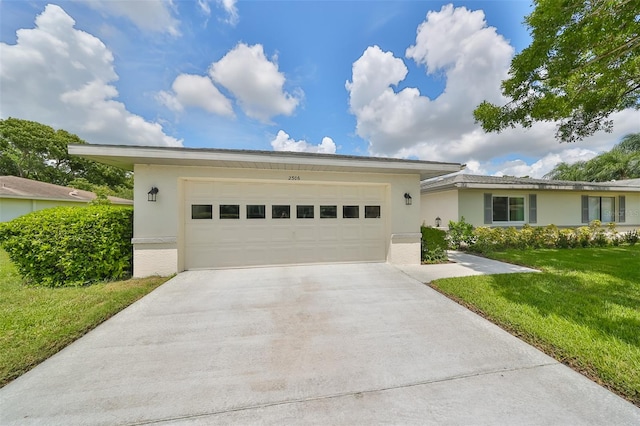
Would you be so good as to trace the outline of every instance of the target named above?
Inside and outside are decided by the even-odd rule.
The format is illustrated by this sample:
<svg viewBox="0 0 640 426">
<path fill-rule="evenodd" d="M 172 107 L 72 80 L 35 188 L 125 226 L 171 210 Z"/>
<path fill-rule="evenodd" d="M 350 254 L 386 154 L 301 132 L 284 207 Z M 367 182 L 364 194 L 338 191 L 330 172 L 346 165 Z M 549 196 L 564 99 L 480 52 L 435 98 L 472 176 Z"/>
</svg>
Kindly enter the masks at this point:
<svg viewBox="0 0 640 426">
<path fill-rule="evenodd" d="M 611 151 L 589 161 L 559 163 L 545 178 L 586 182 L 640 178 L 640 133 L 625 136 Z"/>
</svg>

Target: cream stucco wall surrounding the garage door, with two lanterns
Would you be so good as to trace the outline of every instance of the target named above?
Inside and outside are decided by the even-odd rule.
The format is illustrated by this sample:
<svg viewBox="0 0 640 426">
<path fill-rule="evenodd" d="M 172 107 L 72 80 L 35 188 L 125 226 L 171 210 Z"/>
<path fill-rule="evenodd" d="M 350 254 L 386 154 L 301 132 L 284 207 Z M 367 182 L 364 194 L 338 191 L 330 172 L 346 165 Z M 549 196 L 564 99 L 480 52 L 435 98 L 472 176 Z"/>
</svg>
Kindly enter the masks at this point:
<svg viewBox="0 0 640 426">
<path fill-rule="evenodd" d="M 184 260 L 181 258 L 184 252 L 183 179 L 266 180 L 283 183 L 290 182 L 289 177 L 292 175 L 299 177 L 299 180 L 291 182 L 294 185 L 322 182 L 387 184 L 389 200 L 389 212 L 386 217 L 389 234 L 388 245 L 393 244 L 392 235 L 394 234 L 419 232 L 422 219 L 420 216 L 420 178 L 418 174 L 136 165 L 134 169 L 134 275 L 153 275 L 154 273 L 150 273 L 152 271 L 160 274 L 158 272 L 160 269 L 162 269 L 162 275 L 169 275 L 183 270 Z M 156 202 L 147 201 L 147 192 L 151 187 L 159 189 Z M 406 192 L 413 197 L 412 205 L 405 204 L 404 194 Z M 154 241 L 162 241 L 162 243 Z M 419 263 L 419 246 L 417 251 L 415 247 L 413 251 L 416 256 L 413 263 Z M 154 264 L 158 266 L 154 267 Z"/>
</svg>

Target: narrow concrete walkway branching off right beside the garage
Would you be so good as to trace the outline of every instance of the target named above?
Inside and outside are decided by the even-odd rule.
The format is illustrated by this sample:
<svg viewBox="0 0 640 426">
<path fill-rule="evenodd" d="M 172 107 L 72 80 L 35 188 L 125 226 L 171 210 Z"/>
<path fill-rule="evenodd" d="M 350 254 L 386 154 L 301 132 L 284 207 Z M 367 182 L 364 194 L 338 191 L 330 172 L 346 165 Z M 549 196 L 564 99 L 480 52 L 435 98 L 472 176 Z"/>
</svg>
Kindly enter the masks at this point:
<svg viewBox="0 0 640 426">
<path fill-rule="evenodd" d="M 422 283 L 440 278 L 467 277 L 486 274 L 513 274 L 521 272 L 540 272 L 525 266 L 498 262 L 459 251 L 449 251 L 449 260 L 454 263 L 436 265 L 397 265 L 407 275 Z"/>
</svg>

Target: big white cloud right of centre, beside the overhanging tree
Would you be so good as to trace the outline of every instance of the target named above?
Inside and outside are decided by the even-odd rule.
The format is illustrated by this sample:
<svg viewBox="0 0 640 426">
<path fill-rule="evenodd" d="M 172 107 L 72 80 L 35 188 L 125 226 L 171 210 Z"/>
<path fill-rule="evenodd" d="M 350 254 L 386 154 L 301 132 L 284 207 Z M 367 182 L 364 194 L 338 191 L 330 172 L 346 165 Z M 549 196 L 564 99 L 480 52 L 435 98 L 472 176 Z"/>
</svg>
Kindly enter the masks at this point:
<svg viewBox="0 0 640 426">
<path fill-rule="evenodd" d="M 444 6 L 429 12 L 407 56 L 424 64 L 428 74 L 444 73 L 445 89 L 435 99 L 417 88 L 395 92 L 407 68 L 400 58 L 379 47 L 368 48 L 353 64 L 347 82 L 357 133 L 369 140 L 374 155 L 399 155 L 417 144 L 442 149 L 452 139 L 472 132 L 472 111 L 483 99 L 500 96 L 513 48 L 486 27 L 482 12 Z"/>
</svg>

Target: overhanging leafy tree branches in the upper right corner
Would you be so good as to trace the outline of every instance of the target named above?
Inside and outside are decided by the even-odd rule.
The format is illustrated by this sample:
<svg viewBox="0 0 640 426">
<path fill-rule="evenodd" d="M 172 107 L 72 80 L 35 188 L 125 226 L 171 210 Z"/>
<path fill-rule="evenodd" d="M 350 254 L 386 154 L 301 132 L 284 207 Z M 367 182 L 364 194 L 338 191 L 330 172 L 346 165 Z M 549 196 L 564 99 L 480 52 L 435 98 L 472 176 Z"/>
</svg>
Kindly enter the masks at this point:
<svg viewBox="0 0 640 426">
<path fill-rule="evenodd" d="M 562 142 L 611 131 L 614 112 L 640 108 L 640 1 L 534 0 L 533 41 L 511 62 L 503 106 L 474 111 L 485 131 L 558 122 Z"/>
</svg>

